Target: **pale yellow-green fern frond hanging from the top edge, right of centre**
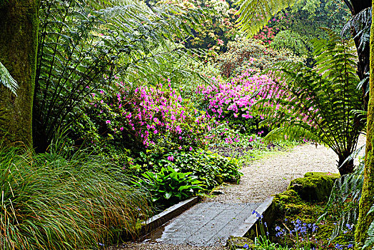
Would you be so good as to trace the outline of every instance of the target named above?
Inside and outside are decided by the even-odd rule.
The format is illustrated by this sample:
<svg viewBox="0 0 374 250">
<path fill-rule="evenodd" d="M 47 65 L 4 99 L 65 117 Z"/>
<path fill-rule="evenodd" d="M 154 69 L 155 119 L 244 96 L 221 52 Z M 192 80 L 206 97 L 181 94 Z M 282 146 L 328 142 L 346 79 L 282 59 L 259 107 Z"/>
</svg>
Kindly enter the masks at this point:
<svg viewBox="0 0 374 250">
<path fill-rule="evenodd" d="M 298 0 L 238 0 L 240 5 L 238 26 L 247 36 L 253 36 L 282 9 L 293 6 Z"/>
</svg>

